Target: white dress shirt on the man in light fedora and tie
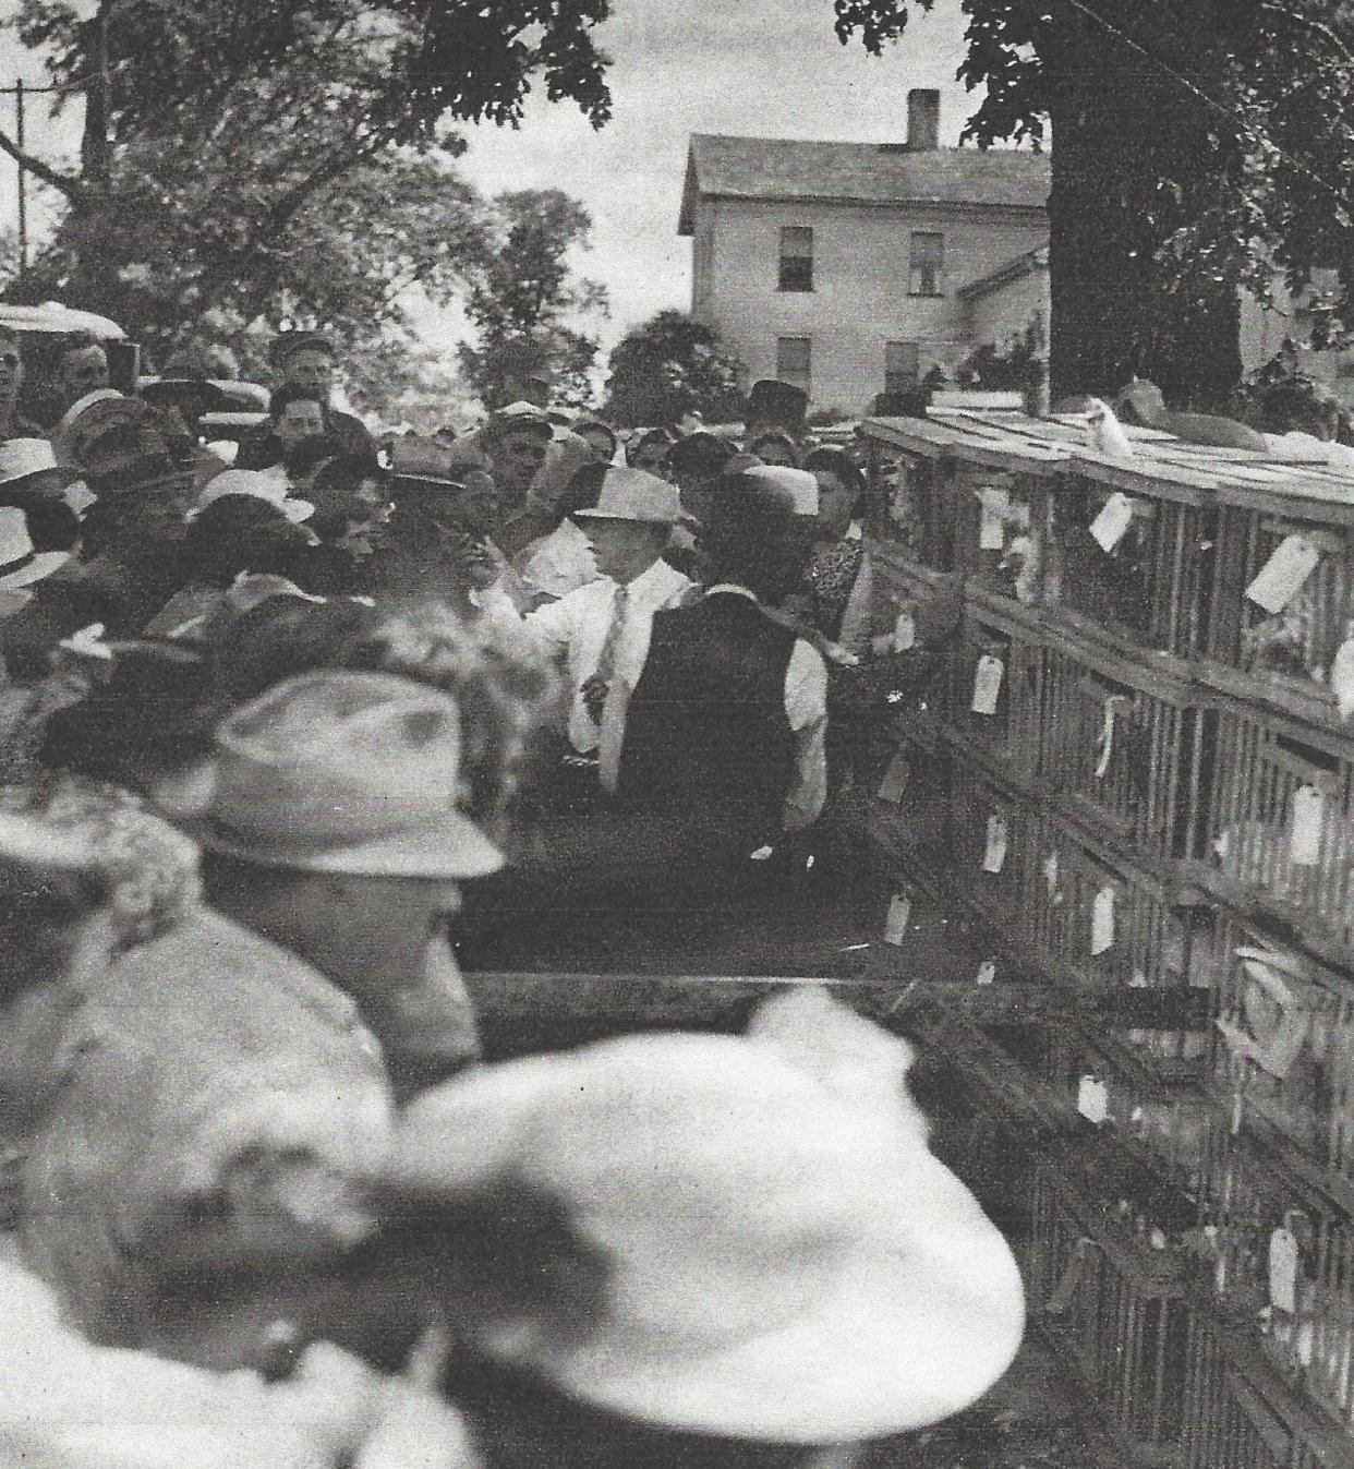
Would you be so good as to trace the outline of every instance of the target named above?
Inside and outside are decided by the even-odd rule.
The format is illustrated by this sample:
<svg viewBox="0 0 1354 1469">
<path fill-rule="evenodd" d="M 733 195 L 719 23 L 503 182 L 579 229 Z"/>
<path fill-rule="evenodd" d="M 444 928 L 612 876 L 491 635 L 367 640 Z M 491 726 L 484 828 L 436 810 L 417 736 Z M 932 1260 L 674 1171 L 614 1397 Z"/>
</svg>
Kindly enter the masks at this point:
<svg viewBox="0 0 1354 1469">
<path fill-rule="evenodd" d="M 615 586 L 609 576 L 580 586 L 558 602 L 537 607 L 526 617 L 527 630 L 551 654 L 565 660 L 568 668 L 570 708 L 568 739 L 580 755 L 598 748 L 601 729 L 583 702 L 583 685 L 598 671 L 598 660 L 615 605 Z M 639 682 L 649 651 L 649 629 L 654 614 L 665 607 L 677 607 L 693 583 L 667 564 L 655 561 L 630 583 L 626 621 L 617 646 L 617 680 L 627 689 Z M 629 702 L 629 701 L 626 701 Z M 620 717 L 624 717 L 621 710 Z"/>
</svg>

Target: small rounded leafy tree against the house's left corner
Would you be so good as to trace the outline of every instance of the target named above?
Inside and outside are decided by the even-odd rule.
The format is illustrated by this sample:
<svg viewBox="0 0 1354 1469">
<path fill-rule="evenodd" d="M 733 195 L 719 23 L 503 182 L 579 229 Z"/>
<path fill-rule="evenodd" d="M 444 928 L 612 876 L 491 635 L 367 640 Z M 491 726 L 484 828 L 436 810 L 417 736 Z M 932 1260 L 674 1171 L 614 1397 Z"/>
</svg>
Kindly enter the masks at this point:
<svg viewBox="0 0 1354 1469">
<path fill-rule="evenodd" d="M 680 423 L 689 413 L 723 423 L 743 413 L 737 360 L 683 311 L 659 311 L 627 332 L 612 348 L 609 367 L 604 410 L 609 423 Z"/>
</svg>

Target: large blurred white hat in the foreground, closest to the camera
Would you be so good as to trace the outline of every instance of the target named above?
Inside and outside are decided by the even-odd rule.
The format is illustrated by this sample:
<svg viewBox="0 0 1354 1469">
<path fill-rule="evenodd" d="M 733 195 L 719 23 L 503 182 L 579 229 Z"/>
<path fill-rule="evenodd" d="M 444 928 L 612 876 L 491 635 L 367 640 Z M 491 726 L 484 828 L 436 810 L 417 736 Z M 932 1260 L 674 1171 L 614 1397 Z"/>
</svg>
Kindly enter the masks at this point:
<svg viewBox="0 0 1354 1469">
<path fill-rule="evenodd" d="M 508 1299 L 455 1238 L 445 1304 L 486 1356 L 624 1416 L 877 1438 L 966 1407 L 1019 1344 L 1019 1275 L 972 1196 L 770 1042 L 626 1037 L 467 1074 L 404 1114 L 391 1181 L 501 1257 L 515 1205 L 562 1212 L 602 1266 L 592 1307 Z"/>
</svg>

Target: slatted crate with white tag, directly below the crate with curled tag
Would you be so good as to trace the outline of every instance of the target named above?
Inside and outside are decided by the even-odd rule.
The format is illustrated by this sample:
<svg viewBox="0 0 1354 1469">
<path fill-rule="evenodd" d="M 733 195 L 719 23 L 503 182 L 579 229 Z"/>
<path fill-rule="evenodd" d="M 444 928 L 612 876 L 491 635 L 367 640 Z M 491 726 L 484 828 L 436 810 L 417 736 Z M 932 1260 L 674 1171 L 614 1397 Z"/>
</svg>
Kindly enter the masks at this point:
<svg viewBox="0 0 1354 1469">
<path fill-rule="evenodd" d="M 1204 895 L 1059 815 L 1041 817 L 1035 829 L 1024 918 L 1043 968 L 1072 984 L 1207 989 L 1213 978 Z"/>
</svg>

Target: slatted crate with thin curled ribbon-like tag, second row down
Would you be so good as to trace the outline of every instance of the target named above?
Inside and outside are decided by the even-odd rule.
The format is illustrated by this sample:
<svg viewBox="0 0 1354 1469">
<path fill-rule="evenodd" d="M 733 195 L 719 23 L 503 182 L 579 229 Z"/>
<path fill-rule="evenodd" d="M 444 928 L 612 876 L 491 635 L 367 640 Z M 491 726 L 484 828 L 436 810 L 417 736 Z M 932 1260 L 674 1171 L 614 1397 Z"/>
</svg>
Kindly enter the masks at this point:
<svg viewBox="0 0 1354 1469">
<path fill-rule="evenodd" d="M 1154 858 L 1204 855 L 1216 714 L 1182 664 L 1050 632 L 1040 695 L 1050 792 Z"/>
</svg>

